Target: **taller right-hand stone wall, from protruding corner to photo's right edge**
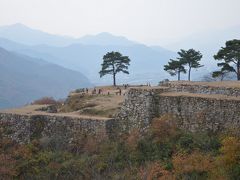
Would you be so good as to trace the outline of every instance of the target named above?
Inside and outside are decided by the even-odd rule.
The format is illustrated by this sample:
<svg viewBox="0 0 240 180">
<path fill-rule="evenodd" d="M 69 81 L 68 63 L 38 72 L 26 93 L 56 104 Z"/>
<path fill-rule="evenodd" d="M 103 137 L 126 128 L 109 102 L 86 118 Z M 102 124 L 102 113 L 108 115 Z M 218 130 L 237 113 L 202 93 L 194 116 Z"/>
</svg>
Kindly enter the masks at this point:
<svg viewBox="0 0 240 180">
<path fill-rule="evenodd" d="M 216 92 L 216 91 L 215 91 Z M 221 131 L 240 128 L 240 98 L 172 92 L 171 88 L 131 89 L 118 115 L 119 130 L 145 130 L 154 117 L 175 116 L 177 125 L 189 131 Z"/>
</svg>

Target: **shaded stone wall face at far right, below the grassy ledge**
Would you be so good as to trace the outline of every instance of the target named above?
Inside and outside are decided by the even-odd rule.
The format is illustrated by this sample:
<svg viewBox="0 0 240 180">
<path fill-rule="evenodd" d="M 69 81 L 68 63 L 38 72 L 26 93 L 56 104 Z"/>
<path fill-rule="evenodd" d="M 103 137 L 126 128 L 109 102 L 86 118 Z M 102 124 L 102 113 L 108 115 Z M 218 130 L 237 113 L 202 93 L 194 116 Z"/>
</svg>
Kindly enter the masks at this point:
<svg viewBox="0 0 240 180">
<path fill-rule="evenodd" d="M 158 114 L 173 114 L 178 127 L 195 131 L 240 128 L 240 101 L 193 96 L 158 96 Z"/>
</svg>

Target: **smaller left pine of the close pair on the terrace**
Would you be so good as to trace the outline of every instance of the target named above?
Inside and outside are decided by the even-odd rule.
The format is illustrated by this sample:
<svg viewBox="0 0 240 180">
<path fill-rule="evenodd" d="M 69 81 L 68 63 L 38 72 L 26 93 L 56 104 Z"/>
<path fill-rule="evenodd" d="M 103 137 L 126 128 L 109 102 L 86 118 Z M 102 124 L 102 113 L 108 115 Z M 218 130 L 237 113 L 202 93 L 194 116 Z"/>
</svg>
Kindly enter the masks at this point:
<svg viewBox="0 0 240 180">
<path fill-rule="evenodd" d="M 178 80 L 180 80 L 180 74 L 186 73 L 186 69 L 183 66 L 182 61 L 170 59 L 167 65 L 164 66 L 164 70 L 167 71 L 171 76 L 178 76 Z"/>
</svg>

